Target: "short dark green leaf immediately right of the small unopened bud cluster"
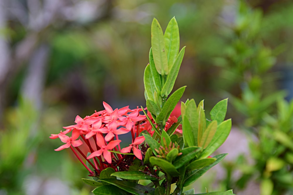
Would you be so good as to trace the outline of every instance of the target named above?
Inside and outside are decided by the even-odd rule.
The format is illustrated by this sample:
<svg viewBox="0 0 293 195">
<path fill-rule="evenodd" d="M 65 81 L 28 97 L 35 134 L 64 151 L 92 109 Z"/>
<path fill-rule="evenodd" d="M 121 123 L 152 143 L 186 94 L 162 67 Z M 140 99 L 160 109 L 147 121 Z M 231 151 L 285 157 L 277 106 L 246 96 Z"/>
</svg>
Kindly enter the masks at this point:
<svg viewBox="0 0 293 195">
<path fill-rule="evenodd" d="M 173 162 L 174 167 L 178 169 L 185 165 L 185 163 L 195 158 L 197 152 L 200 149 L 200 147 L 190 146 L 188 148 L 184 148 L 183 150 L 181 150 L 180 152 L 182 152 L 182 154 L 178 156 L 176 160 Z"/>
</svg>

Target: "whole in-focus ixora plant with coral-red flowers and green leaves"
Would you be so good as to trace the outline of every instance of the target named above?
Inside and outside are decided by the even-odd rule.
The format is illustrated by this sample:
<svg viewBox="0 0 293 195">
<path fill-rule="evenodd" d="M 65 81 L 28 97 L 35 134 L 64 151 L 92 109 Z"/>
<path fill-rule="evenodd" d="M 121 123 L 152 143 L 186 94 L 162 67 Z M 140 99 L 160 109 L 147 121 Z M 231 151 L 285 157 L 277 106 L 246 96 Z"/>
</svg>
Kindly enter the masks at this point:
<svg viewBox="0 0 293 195">
<path fill-rule="evenodd" d="M 210 155 L 224 143 L 231 130 L 231 119 L 224 120 L 227 99 L 212 108 L 211 120 L 205 117 L 203 101 L 196 105 L 193 99 L 181 102 L 178 118 L 171 115 L 186 87 L 169 96 L 185 51 L 183 47 L 179 52 L 175 18 L 169 22 L 165 34 L 159 22 L 153 20 L 151 46 L 144 71 L 147 108 L 113 109 L 103 102 L 105 110 L 85 118 L 76 116 L 75 125 L 64 127 L 65 131 L 50 137 L 65 143 L 56 151 L 70 148 L 89 171 L 94 180 L 82 180 L 96 186 L 93 194 L 194 194 L 194 189 L 183 191 L 183 187 L 195 182 L 226 156 Z M 126 133 L 131 135 L 132 143 L 121 148 L 119 135 Z M 79 148 L 81 145 L 88 152 Z M 171 184 L 176 186 L 171 188 Z"/>
</svg>

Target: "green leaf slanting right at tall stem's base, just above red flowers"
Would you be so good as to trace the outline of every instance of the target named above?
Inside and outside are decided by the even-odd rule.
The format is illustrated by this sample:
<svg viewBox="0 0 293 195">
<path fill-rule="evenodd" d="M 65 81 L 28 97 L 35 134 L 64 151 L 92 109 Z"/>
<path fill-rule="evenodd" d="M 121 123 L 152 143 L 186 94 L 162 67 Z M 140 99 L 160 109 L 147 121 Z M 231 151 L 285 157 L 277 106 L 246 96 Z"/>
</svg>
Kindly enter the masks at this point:
<svg viewBox="0 0 293 195">
<path fill-rule="evenodd" d="M 186 86 L 180 87 L 167 99 L 160 114 L 156 118 L 156 122 L 158 124 L 162 124 L 162 125 L 166 124 L 166 121 L 168 120 L 171 112 L 174 110 L 176 104 L 182 97 L 185 87 Z"/>
</svg>

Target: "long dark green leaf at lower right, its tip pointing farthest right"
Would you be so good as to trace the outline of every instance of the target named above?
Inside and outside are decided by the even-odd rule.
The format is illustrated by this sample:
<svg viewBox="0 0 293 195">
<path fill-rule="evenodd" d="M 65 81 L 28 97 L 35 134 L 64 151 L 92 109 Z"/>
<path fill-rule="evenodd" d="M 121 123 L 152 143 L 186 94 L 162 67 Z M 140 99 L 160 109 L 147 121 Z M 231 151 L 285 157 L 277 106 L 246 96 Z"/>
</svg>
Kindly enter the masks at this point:
<svg viewBox="0 0 293 195">
<path fill-rule="evenodd" d="M 185 177 L 184 177 L 184 184 L 183 186 L 186 187 L 190 184 L 192 184 L 193 182 L 195 182 L 198 178 L 200 178 L 200 176 L 202 176 L 205 172 L 207 172 L 210 168 L 212 168 L 214 165 L 218 164 L 220 161 L 222 161 L 225 156 L 227 154 L 219 154 L 217 156 L 214 156 L 214 158 L 217 158 L 217 160 L 206 166 L 206 167 L 203 167 L 201 169 L 198 169 L 198 170 L 193 170 L 193 171 L 189 171 L 185 174 Z"/>
</svg>

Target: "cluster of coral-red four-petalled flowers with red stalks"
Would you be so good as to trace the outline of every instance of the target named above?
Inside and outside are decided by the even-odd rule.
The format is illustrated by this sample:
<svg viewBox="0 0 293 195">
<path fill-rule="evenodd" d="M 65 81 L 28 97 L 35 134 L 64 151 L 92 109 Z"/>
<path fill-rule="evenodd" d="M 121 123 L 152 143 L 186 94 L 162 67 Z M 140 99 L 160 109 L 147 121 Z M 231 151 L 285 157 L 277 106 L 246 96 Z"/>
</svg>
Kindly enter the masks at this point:
<svg viewBox="0 0 293 195">
<path fill-rule="evenodd" d="M 85 118 L 81 118 L 77 115 L 75 118 L 75 125 L 63 127 L 66 129 L 65 131 L 61 131 L 59 134 L 51 134 L 50 136 L 51 139 L 59 137 L 59 139 L 65 143 L 55 149 L 55 151 L 71 148 L 79 161 L 90 172 L 90 176 L 99 175 L 100 171 L 107 167 L 112 167 L 117 170 L 117 167 L 121 167 L 120 163 L 126 156 L 121 153 L 130 153 L 132 150 L 136 158 L 142 160 L 142 151 L 139 145 L 144 142 L 144 137 L 139 136 L 139 133 L 143 130 L 147 130 L 150 134 L 154 133 L 151 124 L 146 120 L 146 116 L 139 113 L 142 111 L 142 108 L 131 110 L 129 106 L 126 106 L 113 110 L 109 104 L 103 102 L 103 105 L 105 110 L 99 112 L 95 111 L 95 113 Z M 151 118 L 151 115 L 149 116 Z M 166 129 L 170 128 L 174 122 L 177 122 L 177 118 L 170 117 L 166 123 Z M 180 132 L 180 130 L 177 131 Z M 66 135 L 70 132 L 71 137 Z M 131 132 L 132 143 L 121 149 L 121 140 L 118 136 L 128 132 Z M 84 142 L 78 139 L 79 137 L 81 137 Z M 94 144 L 90 139 L 94 140 Z M 84 143 L 91 151 L 89 156 L 86 156 L 79 149 L 79 146 Z M 76 150 L 94 168 L 95 172 L 88 168 L 77 154 Z M 93 161 L 90 159 L 93 159 Z"/>
</svg>

